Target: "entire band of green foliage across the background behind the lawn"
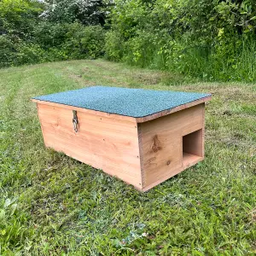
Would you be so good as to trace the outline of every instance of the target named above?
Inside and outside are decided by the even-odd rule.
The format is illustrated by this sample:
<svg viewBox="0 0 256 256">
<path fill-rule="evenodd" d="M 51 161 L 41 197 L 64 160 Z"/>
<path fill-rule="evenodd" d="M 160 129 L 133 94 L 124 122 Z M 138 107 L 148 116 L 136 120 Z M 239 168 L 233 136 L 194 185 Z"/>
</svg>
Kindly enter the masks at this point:
<svg viewBox="0 0 256 256">
<path fill-rule="evenodd" d="M 200 79 L 254 81 L 255 39 L 254 0 L 0 2 L 0 67 L 105 55 Z"/>
</svg>

